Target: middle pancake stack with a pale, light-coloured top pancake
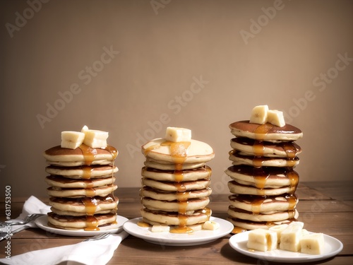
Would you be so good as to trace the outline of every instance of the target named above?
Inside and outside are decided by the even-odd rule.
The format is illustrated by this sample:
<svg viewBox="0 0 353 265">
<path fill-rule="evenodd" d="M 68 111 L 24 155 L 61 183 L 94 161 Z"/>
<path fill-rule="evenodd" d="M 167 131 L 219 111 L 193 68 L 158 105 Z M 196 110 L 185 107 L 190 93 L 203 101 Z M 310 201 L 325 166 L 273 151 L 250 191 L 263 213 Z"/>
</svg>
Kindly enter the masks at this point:
<svg viewBox="0 0 353 265">
<path fill-rule="evenodd" d="M 166 225 L 170 232 L 202 229 L 211 211 L 211 169 L 215 156 L 207 143 L 154 139 L 142 146 L 145 167 L 140 189 L 141 216 L 148 225 Z M 143 225 L 141 223 L 140 225 Z"/>
</svg>

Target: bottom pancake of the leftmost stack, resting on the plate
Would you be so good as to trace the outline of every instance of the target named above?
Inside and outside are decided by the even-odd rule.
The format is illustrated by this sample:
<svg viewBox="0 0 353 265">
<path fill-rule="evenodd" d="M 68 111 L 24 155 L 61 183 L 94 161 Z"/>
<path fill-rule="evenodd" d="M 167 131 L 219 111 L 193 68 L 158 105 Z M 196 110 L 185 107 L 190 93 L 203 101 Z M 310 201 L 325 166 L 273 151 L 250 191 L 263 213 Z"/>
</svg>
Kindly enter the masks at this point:
<svg viewBox="0 0 353 265">
<path fill-rule="evenodd" d="M 94 216 L 60 216 L 48 213 L 48 221 L 54 227 L 64 230 L 99 230 L 102 225 L 116 224 L 116 214 L 96 214 Z"/>
</svg>

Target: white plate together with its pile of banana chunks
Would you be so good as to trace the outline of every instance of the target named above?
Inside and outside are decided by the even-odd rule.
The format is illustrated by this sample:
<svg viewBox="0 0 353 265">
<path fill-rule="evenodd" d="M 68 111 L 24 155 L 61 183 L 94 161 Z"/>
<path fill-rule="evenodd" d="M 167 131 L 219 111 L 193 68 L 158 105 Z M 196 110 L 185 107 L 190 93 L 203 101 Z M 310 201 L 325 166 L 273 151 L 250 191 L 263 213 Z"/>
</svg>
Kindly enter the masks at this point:
<svg viewBox="0 0 353 265">
<path fill-rule="evenodd" d="M 343 248 L 342 242 L 335 237 L 309 232 L 302 229 L 301 224 L 293 226 L 296 225 L 241 232 L 229 238 L 229 245 L 249 257 L 287 263 L 328 259 Z"/>
</svg>

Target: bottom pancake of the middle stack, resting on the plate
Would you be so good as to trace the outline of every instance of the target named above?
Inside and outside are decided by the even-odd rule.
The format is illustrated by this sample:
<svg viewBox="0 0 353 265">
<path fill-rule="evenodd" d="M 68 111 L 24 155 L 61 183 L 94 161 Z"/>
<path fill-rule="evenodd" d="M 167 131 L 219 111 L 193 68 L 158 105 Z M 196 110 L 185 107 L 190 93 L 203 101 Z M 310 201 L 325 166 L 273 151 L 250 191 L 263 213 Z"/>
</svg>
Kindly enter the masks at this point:
<svg viewBox="0 0 353 265">
<path fill-rule="evenodd" d="M 178 212 L 164 212 L 152 211 L 146 208 L 141 209 L 141 216 L 145 223 L 154 225 L 159 223 L 161 225 L 196 225 L 198 223 L 205 223 L 210 219 L 210 209 L 194 211 L 192 214 L 185 215 L 184 218 L 179 218 Z"/>
</svg>

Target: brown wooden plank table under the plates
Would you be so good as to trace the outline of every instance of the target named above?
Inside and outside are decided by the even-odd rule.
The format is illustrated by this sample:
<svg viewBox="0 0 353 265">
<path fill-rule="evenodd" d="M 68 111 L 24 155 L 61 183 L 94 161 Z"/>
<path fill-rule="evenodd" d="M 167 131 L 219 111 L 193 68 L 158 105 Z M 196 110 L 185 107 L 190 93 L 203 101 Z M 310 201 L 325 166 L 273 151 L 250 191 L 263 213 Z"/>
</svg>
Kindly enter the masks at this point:
<svg viewBox="0 0 353 265">
<path fill-rule="evenodd" d="M 119 188 L 119 215 L 139 217 L 138 188 Z M 229 194 L 214 194 L 210 208 L 213 216 L 227 217 Z M 336 257 L 308 264 L 353 264 L 353 190 L 350 182 L 304 182 L 297 189 L 299 220 L 312 232 L 323 232 L 340 240 L 344 247 Z M 15 218 L 27 198 L 12 198 L 11 216 Z M 47 202 L 48 198 L 40 198 Z M 0 201 L 1 220 L 5 220 L 4 200 Z M 230 247 L 227 235 L 214 242 L 192 247 L 155 245 L 129 235 L 114 252 L 109 264 L 270 264 L 236 252 Z M 11 238 L 11 256 L 35 249 L 70 245 L 82 237 L 49 235 L 32 228 L 18 232 Z M 0 242 L 0 257 L 5 257 L 6 241 Z"/>
</svg>

